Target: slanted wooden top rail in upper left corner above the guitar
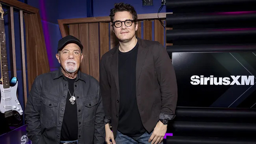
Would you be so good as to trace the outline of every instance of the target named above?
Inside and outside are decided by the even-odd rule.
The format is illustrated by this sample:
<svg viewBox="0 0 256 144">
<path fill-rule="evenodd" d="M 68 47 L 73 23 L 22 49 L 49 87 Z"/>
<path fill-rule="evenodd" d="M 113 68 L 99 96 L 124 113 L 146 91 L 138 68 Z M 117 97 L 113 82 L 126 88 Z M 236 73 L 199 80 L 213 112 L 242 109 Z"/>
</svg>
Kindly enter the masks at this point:
<svg viewBox="0 0 256 144">
<path fill-rule="evenodd" d="M 34 8 L 33 6 L 30 6 L 18 0 L 0 0 L 0 3 L 17 8 L 29 14 L 36 14 L 38 12 L 37 8 Z"/>
</svg>

